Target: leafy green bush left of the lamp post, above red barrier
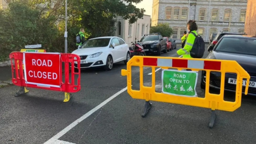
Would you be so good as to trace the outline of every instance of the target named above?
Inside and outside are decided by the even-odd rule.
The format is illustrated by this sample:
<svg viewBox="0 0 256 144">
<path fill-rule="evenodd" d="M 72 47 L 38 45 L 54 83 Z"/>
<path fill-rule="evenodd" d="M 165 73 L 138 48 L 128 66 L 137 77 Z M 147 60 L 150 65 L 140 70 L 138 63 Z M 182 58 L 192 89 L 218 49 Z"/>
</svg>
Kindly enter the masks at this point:
<svg viewBox="0 0 256 144">
<path fill-rule="evenodd" d="M 7 10 L 1 10 L 0 19 L 0 61 L 25 45 L 42 44 L 50 50 L 58 36 L 53 17 L 41 18 L 38 10 L 20 2 L 9 3 Z"/>
</svg>

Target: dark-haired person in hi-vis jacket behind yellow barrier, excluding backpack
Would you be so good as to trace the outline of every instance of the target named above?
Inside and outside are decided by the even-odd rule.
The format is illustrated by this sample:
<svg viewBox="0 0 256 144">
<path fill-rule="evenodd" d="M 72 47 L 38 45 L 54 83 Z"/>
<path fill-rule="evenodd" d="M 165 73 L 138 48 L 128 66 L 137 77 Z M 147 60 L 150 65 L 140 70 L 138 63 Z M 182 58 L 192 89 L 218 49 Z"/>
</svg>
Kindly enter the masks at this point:
<svg viewBox="0 0 256 144">
<path fill-rule="evenodd" d="M 196 33 L 196 30 L 197 30 L 196 21 L 189 20 L 188 23 L 187 23 L 187 29 L 189 30 L 189 32 L 187 34 L 188 37 L 186 39 L 185 46 L 182 49 L 178 50 L 177 54 L 182 55 L 183 58 L 192 58 L 190 56 L 190 51 L 191 51 L 191 49 L 194 45 L 196 37 L 193 34 L 190 34 L 190 33 L 193 32 L 197 35 L 197 33 Z"/>
</svg>

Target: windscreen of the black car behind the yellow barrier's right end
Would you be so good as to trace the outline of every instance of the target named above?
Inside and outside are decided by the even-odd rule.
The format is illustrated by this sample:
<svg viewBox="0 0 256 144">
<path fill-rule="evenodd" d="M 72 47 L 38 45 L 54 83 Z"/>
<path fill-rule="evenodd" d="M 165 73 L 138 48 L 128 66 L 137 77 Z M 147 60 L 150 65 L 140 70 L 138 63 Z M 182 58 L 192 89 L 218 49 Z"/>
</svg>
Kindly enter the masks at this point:
<svg viewBox="0 0 256 144">
<path fill-rule="evenodd" d="M 256 38 L 224 37 L 215 48 L 216 52 L 256 55 Z"/>
</svg>

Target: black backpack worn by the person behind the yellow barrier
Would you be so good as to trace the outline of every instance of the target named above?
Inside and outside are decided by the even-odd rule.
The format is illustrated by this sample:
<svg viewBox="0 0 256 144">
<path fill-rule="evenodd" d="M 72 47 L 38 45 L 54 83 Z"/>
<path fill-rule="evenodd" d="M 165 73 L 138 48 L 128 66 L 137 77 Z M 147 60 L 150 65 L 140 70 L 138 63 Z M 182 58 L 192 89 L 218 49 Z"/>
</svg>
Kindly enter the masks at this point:
<svg viewBox="0 0 256 144">
<path fill-rule="evenodd" d="M 190 51 L 190 56 L 192 58 L 203 58 L 204 51 L 205 51 L 205 43 L 204 39 L 199 35 L 196 35 L 195 33 L 191 32 L 196 38 L 194 45 Z"/>
</svg>

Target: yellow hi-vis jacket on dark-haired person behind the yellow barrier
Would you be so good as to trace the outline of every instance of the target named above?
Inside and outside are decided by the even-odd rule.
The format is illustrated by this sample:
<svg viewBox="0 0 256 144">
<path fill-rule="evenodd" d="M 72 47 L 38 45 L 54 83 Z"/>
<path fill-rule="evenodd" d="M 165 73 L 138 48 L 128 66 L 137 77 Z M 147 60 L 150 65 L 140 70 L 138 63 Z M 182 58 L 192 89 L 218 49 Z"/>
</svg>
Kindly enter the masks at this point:
<svg viewBox="0 0 256 144">
<path fill-rule="evenodd" d="M 191 32 L 193 32 L 197 35 L 195 30 L 193 30 Z M 196 37 L 193 34 L 189 34 L 187 39 L 186 39 L 187 41 L 185 43 L 185 46 L 183 47 L 183 49 L 180 49 L 179 51 L 177 51 L 177 54 L 178 55 L 183 55 L 183 58 L 192 58 L 190 56 L 190 51 L 191 51 L 191 49 L 194 45 L 195 39 L 196 39 Z"/>
</svg>

